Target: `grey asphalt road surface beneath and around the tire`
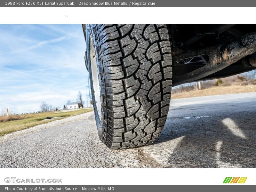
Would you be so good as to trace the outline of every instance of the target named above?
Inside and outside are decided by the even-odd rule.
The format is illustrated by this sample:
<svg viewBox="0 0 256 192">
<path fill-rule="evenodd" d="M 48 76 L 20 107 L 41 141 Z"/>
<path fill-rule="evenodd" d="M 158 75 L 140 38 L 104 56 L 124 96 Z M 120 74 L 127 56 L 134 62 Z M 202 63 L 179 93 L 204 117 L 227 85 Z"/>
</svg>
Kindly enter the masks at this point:
<svg viewBox="0 0 256 192">
<path fill-rule="evenodd" d="M 256 92 L 171 101 L 158 140 L 110 150 L 93 112 L 0 138 L 0 167 L 256 167 Z"/>
</svg>

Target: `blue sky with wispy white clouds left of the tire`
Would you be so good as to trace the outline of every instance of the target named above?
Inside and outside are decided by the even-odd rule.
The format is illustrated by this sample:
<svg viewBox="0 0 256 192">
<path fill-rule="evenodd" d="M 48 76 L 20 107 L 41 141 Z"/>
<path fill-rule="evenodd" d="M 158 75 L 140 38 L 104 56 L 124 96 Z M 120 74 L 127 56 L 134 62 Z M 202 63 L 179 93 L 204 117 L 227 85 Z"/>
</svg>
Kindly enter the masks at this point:
<svg viewBox="0 0 256 192">
<path fill-rule="evenodd" d="M 84 51 L 82 25 L 0 25 L 0 109 L 63 107 L 78 91 L 86 103 Z"/>
</svg>

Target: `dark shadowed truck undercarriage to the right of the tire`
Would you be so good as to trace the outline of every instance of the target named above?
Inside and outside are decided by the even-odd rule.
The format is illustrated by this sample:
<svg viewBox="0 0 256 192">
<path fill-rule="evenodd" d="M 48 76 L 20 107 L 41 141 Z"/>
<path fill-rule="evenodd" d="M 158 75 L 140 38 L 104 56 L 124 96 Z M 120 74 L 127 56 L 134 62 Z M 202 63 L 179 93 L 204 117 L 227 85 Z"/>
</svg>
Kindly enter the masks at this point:
<svg viewBox="0 0 256 192">
<path fill-rule="evenodd" d="M 172 42 L 172 86 L 256 69 L 256 26 L 167 25 Z"/>
</svg>

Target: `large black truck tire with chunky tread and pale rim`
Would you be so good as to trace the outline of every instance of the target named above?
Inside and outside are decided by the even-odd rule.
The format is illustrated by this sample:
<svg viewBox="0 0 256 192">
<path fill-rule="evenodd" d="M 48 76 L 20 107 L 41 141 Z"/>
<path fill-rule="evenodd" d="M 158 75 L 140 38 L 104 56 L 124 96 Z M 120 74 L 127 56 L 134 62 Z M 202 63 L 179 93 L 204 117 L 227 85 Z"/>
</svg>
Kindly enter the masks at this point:
<svg viewBox="0 0 256 192">
<path fill-rule="evenodd" d="M 166 25 L 85 25 L 86 57 L 100 140 L 111 149 L 152 143 L 171 98 Z"/>
</svg>

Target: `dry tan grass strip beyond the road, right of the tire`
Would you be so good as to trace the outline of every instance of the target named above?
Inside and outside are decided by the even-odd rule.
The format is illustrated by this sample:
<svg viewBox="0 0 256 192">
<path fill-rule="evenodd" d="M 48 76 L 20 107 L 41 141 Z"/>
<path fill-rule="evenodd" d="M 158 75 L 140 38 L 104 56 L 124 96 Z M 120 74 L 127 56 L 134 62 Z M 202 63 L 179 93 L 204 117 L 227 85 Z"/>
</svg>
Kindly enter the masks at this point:
<svg viewBox="0 0 256 192">
<path fill-rule="evenodd" d="M 233 93 L 256 92 L 256 85 L 231 85 L 231 86 L 215 86 L 208 89 L 181 92 L 172 95 L 172 99 L 200 97 L 209 95 L 225 95 Z"/>
</svg>

